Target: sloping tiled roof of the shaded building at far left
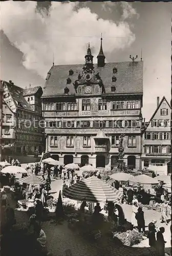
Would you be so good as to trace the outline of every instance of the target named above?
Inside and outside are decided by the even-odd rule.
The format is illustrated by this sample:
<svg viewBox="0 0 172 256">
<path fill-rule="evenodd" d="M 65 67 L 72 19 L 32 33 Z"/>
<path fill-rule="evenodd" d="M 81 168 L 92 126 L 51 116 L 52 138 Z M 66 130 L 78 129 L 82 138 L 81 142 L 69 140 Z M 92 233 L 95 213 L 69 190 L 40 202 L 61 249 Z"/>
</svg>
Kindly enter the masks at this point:
<svg viewBox="0 0 172 256">
<path fill-rule="evenodd" d="M 25 110 L 33 111 L 29 103 L 23 96 L 23 88 L 15 86 L 13 83 L 5 81 L 6 86 L 8 87 L 9 93 L 16 105 L 16 107 L 23 108 Z M 19 103 L 19 104 L 18 104 Z"/>
</svg>

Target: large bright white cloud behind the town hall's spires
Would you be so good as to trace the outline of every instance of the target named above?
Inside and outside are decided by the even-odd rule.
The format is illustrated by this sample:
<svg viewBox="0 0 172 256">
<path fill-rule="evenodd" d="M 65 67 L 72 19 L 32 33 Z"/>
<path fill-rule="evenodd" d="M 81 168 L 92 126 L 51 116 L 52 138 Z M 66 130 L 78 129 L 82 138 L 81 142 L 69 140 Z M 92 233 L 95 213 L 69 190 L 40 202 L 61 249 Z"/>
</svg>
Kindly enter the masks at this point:
<svg viewBox="0 0 172 256">
<path fill-rule="evenodd" d="M 132 15 L 131 9 L 126 10 L 125 17 Z M 83 63 L 88 42 L 96 61 L 101 32 L 104 53 L 130 47 L 135 40 L 126 22 L 98 18 L 89 8 L 78 8 L 76 2 L 52 2 L 48 15 L 36 10 L 36 2 L 1 2 L 1 29 L 24 53 L 23 65 L 44 78 L 53 54 L 55 65 Z"/>
</svg>

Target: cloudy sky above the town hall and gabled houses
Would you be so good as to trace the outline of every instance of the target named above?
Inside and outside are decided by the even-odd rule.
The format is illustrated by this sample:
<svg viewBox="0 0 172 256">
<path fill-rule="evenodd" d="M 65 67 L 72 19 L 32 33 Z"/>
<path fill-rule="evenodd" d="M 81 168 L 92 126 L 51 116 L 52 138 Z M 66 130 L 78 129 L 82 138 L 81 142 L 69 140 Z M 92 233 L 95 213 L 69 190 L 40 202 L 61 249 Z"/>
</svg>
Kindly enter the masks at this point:
<svg viewBox="0 0 172 256">
<path fill-rule="evenodd" d="M 171 3 L 1 2 L 1 79 L 44 86 L 55 65 L 83 63 L 88 42 L 94 61 L 103 38 L 106 62 L 143 60 L 143 108 L 171 99 Z M 54 56 L 54 57 L 53 57 Z"/>
</svg>

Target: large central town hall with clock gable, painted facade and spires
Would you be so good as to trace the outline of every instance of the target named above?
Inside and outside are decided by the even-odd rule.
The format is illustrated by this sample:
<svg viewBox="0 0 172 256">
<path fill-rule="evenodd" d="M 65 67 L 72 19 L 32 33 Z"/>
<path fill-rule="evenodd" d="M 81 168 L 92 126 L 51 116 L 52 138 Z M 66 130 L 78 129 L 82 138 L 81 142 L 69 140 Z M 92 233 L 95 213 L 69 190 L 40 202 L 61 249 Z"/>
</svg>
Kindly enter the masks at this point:
<svg viewBox="0 0 172 256">
<path fill-rule="evenodd" d="M 119 136 L 124 161 L 141 166 L 143 62 L 93 64 L 90 46 L 84 65 L 52 66 L 42 94 L 46 150 L 62 164 L 117 166 Z"/>
</svg>

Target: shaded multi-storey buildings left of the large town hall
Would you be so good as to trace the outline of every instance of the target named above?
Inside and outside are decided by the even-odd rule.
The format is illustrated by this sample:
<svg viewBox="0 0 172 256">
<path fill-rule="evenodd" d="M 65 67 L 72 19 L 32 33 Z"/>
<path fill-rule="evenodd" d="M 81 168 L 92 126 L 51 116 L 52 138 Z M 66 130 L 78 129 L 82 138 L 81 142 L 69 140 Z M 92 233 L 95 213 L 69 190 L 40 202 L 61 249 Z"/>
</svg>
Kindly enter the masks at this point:
<svg viewBox="0 0 172 256">
<path fill-rule="evenodd" d="M 22 89 L 12 81 L 3 81 L 3 87 L 3 155 L 41 153 L 45 149 L 44 127 L 39 125 L 42 120 L 41 87 Z M 33 99 L 31 105 L 26 98 Z"/>
</svg>

